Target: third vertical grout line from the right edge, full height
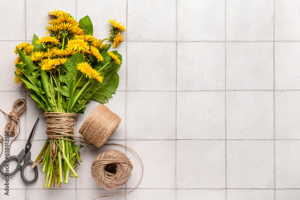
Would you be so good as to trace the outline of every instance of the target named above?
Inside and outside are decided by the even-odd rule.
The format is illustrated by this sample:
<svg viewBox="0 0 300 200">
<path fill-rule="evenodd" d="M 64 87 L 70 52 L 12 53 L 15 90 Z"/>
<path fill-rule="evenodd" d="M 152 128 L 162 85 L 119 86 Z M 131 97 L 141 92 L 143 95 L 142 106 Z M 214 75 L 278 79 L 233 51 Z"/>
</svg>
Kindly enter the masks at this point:
<svg viewBox="0 0 300 200">
<path fill-rule="evenodd" d="M 175 52 L 175 199 L 177 199 L 177 12 L 178 2 L 176 1 L 176 52 Z"/>
</svg>

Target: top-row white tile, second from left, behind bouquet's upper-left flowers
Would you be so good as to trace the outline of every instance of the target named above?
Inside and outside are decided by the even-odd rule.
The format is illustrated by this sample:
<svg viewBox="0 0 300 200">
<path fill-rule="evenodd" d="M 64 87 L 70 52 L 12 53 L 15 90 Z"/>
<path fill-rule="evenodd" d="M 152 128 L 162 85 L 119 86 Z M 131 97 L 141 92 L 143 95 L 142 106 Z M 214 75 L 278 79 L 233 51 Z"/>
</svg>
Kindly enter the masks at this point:
<svg viewBox="0 0 300 200">
<path fill-rule="evenodd" d="M 48 12 L 52 10 L 63 10 L 70 13 L 76 19 L 76 3 L 75 1 L 26 1 L 26 40 L 32 43 L 33 34 L 36 34 L 39 38 L 43 36 L 50 36 L 46 34 L 45 26 L 48 26 L 48 22 L 53 18 L 48 15 Z M 38 11 L 38 12 L 37 12 Z M 79 19 L 76 19 L 79 22 Z"/>
</svg>

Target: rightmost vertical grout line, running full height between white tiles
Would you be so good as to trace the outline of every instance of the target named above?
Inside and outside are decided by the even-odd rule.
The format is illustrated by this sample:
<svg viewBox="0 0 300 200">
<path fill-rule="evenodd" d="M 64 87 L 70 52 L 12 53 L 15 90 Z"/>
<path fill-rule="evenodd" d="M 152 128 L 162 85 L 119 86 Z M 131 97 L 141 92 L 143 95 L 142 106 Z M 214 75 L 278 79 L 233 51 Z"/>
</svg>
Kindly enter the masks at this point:
<svg viewBox="0 0 300 200">
<path fill-rule="evenodd" d="M 275 163 L 275 0 L 273 0 L 273 148 L 274 148 L 274 200 L 276 200 L 276 163 Z"/>
</svg>

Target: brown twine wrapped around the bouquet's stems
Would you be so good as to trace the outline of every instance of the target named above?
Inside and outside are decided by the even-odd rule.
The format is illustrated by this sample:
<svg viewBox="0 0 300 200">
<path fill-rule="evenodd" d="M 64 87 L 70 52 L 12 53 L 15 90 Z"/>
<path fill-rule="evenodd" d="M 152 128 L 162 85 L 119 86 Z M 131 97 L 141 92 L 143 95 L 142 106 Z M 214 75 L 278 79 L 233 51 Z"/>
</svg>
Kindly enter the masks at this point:
<svg viewBox="0 0 300 200">
<path fill-rule="evenodd" d="M 74 135 L 76 113 L 45 112 L 44 115 L 47 122 L 46 134 L 49 139 L 63 139 L 76 142 L 72 139 L 62 138 L 62 136 L 80 138 Z"/>
</svg>

